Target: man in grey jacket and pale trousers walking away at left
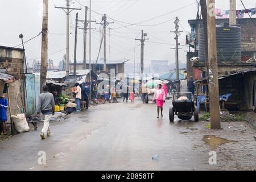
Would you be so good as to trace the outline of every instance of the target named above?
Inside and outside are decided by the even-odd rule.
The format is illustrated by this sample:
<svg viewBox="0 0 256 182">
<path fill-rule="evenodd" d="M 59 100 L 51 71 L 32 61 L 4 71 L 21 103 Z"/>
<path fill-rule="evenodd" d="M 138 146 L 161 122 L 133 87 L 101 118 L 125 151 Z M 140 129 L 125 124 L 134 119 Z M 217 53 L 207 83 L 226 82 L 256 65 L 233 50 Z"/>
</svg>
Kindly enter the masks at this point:
<svg viewBox="0 0 256 182">
<path fill-rule="evenodd" d="M 52 93 L 49 93 L 49 88 L 48 86 L 43 86 L 43 93 L 39 95 L 39 100 L 38 100 L 38 117 L 40 117 L 40 111 L 43 114 L 43 121 L 44 121 L 44 126 L 42 129 L 42 132 L 40 134 L 42 139 L 46 139 L 51 135 L 51 131 L 49 129 L 49 119 L 52 117 L 52 115 L 55 114 L 55 103 L 54 103 L 54 97 Z"/>
</svg>

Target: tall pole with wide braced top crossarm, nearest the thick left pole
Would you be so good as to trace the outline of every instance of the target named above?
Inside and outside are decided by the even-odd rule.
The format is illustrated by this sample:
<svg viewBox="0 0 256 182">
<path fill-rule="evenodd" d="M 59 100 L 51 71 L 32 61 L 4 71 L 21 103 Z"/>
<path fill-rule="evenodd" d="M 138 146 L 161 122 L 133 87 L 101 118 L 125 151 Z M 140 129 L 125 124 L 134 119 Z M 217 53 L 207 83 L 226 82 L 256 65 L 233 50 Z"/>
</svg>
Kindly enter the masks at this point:
<svg viewBox="0 0 256 182">
<path fill-rule="evenodd" d="M 66 27 L 66 76 L 69 76 L 69 14 L 73 11 L 73 10 L 81 10 L 77 9 L 77 8 L 71 8 L 69 5 L 69 2 L 71 0 L 66 0 L 67 1 L 67 7 L 57 7 L 55 6 L 55 8 L 57 9 L 62 9 L 66 15 L 67 15 L 67 27 Z M 71 11 L 70 11 L 71 10 Z"/>
</svg>

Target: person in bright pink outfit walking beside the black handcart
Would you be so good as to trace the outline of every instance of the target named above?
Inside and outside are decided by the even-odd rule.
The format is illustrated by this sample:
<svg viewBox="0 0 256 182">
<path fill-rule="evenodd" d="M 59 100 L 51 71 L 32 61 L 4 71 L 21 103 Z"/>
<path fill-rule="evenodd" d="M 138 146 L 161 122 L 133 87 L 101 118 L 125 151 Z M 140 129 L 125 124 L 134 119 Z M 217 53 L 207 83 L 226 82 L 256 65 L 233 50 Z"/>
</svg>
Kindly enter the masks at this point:
<svg viewBox="0 0 256 182">
<path fill-rule="evenodd" d="M 166 92 L 163 89 L 162 84 L 158 84 L 158 89 L 155 91 L 153 101 L 156 101 L 156 105 L 158 106 L 158 117 L 159 118 L 159 111 L 161 109 L 161 117 L 163 117 L 163 103 L 166 100 Z"/>
</svg>

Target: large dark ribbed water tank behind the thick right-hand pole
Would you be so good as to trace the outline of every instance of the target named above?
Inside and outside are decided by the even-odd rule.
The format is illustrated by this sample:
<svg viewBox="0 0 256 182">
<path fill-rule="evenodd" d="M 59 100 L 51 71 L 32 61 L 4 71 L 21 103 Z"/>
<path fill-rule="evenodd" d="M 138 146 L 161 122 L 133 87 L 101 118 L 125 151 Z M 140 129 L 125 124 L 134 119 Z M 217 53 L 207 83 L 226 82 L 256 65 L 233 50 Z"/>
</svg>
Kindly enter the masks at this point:
<svg viewBox="0 0 256 182">
<path fill-rule="evenodd" d="M 216 26 L 217 58 L 222 62 L 241 61 L 241 28 L 223 23 Z M 199 28 L 199 61 L 205 61 L 205 36 L 203 26 Z"/>
</svg>

